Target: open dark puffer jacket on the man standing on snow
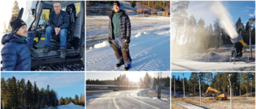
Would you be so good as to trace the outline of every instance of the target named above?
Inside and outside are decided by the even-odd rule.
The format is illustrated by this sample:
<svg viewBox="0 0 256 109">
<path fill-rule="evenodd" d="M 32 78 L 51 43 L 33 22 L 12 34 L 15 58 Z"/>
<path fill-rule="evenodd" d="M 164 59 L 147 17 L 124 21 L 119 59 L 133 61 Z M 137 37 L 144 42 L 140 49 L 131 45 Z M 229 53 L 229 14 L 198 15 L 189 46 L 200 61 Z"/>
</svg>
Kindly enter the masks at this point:
<svg viewBox="0 0 256 109">
<path fill-rule="evenodd" d="M 120 11 L 123 11 L 123 13 L 121 14 L 121 17 L 119 18 L 119 27 L 120 27 L 120 33 L 121 33 L 120 37 L 121 37 L 121 40 L 123 43 L 124 41 L 126 41 L 126 37 L 130 37 L 130 19 L 124 10 L 120 10 Z M 114 36 L 114 25 L 112 22 L 113 16 L 114 16 L 114 11 L 109 16 L 110 17 L 110 22 L 109 22 L 110 40 L 114 40 L 114 37 L 115 37 Z"/>
</svg>

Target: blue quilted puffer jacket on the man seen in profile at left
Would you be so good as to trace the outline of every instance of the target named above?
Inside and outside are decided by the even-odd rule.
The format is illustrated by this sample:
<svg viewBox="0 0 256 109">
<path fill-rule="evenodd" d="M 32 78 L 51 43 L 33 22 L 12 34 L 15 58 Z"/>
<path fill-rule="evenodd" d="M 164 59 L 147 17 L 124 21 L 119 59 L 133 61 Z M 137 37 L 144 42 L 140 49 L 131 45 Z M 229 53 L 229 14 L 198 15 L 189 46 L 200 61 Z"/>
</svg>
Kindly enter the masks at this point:
<svg viewBox="0 0 256 109">
<path fill-rule="evenodd" d="M 28 33 L 26 40 L 18 39 L 17 34 L 6 34 L 2 37 L 2 70 L 30 71 L 30 47 L 33 46 L 33 33 Z"/>
</svg>

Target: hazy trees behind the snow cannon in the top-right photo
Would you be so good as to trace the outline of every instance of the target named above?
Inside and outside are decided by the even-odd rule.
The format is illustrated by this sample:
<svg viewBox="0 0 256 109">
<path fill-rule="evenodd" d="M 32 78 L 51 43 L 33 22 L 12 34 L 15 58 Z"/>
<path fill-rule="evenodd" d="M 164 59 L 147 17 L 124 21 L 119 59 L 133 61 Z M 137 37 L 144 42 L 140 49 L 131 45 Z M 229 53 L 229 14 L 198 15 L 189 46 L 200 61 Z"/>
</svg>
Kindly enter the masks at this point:
<svg viewBox="0 0 256 109">
<path fill-rule="evenodd" d="M 172 23 L 174 23 L 174 40 L 172 42 L 172 47 L 177 48 L 177 45 L 183 47 L 184 49 L 190 50 L 201 50 L 209 48 L 218 48 L 222 45 L 231 45 L 230 37 L 220 25 L 220 21 L 216 19 L 214 24 L 206 25 L 203 18 L 196 21 L 194 15 L 188 15 L 186 10 L 188 10 L 190 2 L 180 1 L 172 2 Z M 252 45 L 255 45 L 255 28 L 250 28 L 249 20 L 246 22 L 246 26 L 243 25 L 244 22 L 241 18 L 235 23 L 235 28 L 237 33 L 241 34 L 243 41 L 246 44 L 250 44 L 250 30 L 251 30 L 251 41 Z M 180 43 L 186 42 L 183 45 Z"/>
</svg>

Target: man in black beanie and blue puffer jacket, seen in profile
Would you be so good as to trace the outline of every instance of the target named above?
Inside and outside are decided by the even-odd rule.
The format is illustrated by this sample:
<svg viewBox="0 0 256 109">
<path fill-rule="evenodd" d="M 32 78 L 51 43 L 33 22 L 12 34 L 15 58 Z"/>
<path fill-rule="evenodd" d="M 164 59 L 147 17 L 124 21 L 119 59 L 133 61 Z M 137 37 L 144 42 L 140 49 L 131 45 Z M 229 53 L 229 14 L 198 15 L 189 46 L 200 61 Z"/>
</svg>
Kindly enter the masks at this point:
<svg viewBox="0 0 256 109">
<path fill-rule="evenodd" d="M 13 33 L 2 37 L 2 70 L 30 71 L 30 47 L 33 46 L 33 33 L 27 33 L 26 23 L 20 19 L 10 22 Z"/>
</svg>

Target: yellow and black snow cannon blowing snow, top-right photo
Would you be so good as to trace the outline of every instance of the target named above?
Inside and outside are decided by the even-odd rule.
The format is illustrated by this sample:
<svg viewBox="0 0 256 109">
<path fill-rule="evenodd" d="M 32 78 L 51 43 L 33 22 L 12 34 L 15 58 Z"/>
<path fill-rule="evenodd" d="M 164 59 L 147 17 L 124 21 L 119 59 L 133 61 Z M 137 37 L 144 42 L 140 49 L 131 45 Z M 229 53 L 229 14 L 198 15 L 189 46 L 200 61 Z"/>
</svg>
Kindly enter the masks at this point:
<svg viewBox="0 0 256 109">
<path fill-rule="evenodd" d="M 242 36 L 238 34 L 238 37 L 232 39 L 231 42 L 234 44 L 234 50 L 231 50 L 231 56 L 242 56 L 242 51 L 247 48 L 246 43 L 242 40 Z"/>
</svg>

